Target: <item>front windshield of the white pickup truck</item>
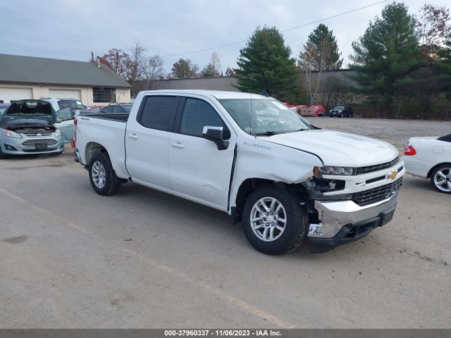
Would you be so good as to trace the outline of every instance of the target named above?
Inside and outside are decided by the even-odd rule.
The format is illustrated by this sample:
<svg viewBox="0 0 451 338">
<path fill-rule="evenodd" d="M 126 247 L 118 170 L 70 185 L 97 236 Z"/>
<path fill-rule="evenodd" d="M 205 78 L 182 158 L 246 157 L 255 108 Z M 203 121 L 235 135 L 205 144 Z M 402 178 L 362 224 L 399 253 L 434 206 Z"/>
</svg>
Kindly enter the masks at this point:
<svg viewBox="0 0 451 338">
<path fill-rule="evenodd" d="M 307 121 L 276 99 L 220 99 L 247 134 L 283 134 L 312 129 Z"/>
</svg>

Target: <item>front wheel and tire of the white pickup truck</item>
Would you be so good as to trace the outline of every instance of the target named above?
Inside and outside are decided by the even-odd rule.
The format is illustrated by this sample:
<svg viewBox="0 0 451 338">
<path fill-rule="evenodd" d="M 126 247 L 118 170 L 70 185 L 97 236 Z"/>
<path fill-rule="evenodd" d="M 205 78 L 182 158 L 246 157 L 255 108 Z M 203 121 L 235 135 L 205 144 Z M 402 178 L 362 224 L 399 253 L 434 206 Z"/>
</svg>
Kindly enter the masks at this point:
<svg viewBox="0 0 451 338">
<path fill-rule="evenodd" d="M 307 236 L 308 223 L 307 213 L 299 206 L 299 200 L 297 194 L 271 186 L 252 192 L 242 212 L 243 229 L 249 243 L 268 255 L 280 255 L 299 248 Z M 278 219 L 274 219 L 276 216 Z M 252 222 L 251 218 L 258 220 Z M 271 227 L 271 224 L 276 226 Z"/>
</svg>

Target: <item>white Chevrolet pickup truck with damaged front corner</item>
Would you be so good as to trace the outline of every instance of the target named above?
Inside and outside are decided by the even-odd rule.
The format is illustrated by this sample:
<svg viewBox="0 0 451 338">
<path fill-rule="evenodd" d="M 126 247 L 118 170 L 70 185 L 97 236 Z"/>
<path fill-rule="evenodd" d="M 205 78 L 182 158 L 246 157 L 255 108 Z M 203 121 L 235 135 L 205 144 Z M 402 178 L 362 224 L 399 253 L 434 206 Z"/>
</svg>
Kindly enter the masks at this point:
<svg viewBox="0 0 451 338">
<path fill-rule="evenodd" d="M 131 180 L 216 208 L 268 254 L 306 239 L 324 252 L 385 225 L 405 173 L 390 144 L 240 92 L 140 92 L 130 115 L 78 115 L 75 139 L 98 194 Z"/>
</svg>

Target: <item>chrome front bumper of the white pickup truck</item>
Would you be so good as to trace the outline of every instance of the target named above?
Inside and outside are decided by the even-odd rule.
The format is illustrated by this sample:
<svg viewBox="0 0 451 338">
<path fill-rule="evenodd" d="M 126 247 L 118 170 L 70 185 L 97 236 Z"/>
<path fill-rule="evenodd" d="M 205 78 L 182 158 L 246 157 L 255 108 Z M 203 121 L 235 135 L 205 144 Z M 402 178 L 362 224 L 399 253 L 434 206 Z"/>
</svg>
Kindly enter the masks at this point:
<svg viewBox="0 0 451 338">
<path fill-rule="evenodd" d="M 320 223 L 309 226 L 308 237 L 330 239 L 345 225 L 365 223 L 366 220 L 381 218 L 381 214 L 394 210 L 398 193 L 389 199 L 359 206 L 354 201 L 315 201 Z"/>
</svg>

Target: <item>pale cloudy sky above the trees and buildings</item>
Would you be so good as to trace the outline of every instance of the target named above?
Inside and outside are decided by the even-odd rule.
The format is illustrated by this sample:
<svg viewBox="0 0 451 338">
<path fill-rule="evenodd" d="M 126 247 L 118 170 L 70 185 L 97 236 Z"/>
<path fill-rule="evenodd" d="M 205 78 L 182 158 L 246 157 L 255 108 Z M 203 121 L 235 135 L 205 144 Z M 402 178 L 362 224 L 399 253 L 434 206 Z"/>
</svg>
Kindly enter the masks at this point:
<svg viewBox="0 0 451 338">
<path fill-rule="evenodd" d="M 95 57 L 113 47 L 130 51 L 140 42 L 147 56 L 163 57 L 166 73 L 179 58 L 190 58 L 202 69 L 214 51 L 225 72 L 228 66 L 236 67 L 240 49 L 258 26 L 288 30 L 283 32 L 285 44 L 297 58 L 309 33 L 319 25 L 305 24 L 379 1 L 1 0 L 0 53 L 88 61 L 91 52 Z M 447 5 L 440 0 L 400 2 L 415 14 L 426 2 Z M 352 53 L 352 41 L 389 3 L 321 21 L 338 40 L 343 67 Z M 290 30 L 299 25 L 305 26 Z M 218 47 L 226 44 L 232 45 Z M 209 50 L 199 51 L 203 49 Z M 191 51 L 197 52 L 187 53 Z"/>
</svg>

